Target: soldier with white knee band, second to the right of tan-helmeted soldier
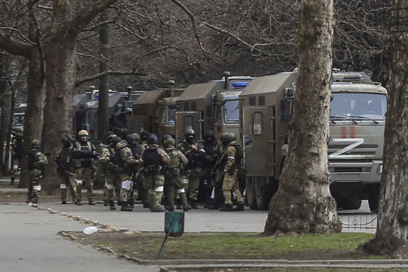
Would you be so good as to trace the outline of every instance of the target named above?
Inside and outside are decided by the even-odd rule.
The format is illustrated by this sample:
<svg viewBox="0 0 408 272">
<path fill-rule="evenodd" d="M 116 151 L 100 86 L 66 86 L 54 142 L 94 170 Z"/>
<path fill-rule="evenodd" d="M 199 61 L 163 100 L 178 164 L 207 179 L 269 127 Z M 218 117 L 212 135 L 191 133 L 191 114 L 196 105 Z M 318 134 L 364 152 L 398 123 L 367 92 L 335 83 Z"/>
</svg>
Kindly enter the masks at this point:
<svg viewBox="0 0 408 272">
<path fill-rule="evenodd" d="M 112 138 L 111 141 L 118 141 L 119 137 Z M 131 191 L 133 190 L 133 166 L 140 164 L 140 161 L 133 157 L 131 145 L 136 142 L 136 138 L 132 135 L 126 135 L 124 140 L 119 141 L 115 147 L 115 155 L 113 159 L 115 161 L 116 171 L 120 175 L 121 189 L 120 189 L 120 199 L 122 201 L 122 211 L 133 210 L 133 207 L 129 205 L 131 200 Z"/>
</svg>

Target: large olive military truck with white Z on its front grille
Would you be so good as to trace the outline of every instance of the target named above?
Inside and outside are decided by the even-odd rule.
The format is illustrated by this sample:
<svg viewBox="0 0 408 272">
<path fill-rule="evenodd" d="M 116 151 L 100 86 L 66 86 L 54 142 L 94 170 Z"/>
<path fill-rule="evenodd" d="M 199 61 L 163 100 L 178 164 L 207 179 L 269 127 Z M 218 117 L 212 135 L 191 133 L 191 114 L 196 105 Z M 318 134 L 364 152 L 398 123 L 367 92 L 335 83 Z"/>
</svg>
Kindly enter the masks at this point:
<svg viewBox="0 0 408 272">
<path fill-rule="evenodd" d="M 249 208 L 267 210 L 289 147 L 296 73 L 255 78 L 240 94 L 240 136 Z M 364 72 L 333 73 L 328 161 L 337 208 L 378 208 L 386 89 Z"/>
</svg>

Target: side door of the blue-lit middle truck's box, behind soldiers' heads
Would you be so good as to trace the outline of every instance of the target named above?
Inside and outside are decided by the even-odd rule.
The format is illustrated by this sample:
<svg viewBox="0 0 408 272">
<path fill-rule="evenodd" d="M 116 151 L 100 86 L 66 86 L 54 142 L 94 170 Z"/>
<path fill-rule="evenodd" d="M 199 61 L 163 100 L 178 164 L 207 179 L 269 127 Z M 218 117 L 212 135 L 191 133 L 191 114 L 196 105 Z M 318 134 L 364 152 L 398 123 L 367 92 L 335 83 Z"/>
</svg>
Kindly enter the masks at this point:
<svg viewBox="0 0 408 272">
<path fill-rule="evenodd" d="M 186 129 L 194 129 L 196 141 L 203 140 L 203 114 L 199 111 L 177 111 L 175 113 L 175 136 L 179 143 Z"/>
</svg>

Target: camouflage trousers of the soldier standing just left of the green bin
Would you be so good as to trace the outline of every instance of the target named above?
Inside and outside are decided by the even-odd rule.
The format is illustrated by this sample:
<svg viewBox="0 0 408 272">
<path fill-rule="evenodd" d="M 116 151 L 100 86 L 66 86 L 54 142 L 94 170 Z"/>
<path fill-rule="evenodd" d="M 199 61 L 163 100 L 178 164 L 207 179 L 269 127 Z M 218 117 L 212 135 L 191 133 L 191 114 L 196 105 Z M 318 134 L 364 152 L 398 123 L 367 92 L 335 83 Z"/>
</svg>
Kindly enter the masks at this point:
<svg viewBox="0 0 408 272">
<path fill-rule="evenodd" d="M 147 195 L 149 196 L 150 210 L 160 208 L 164 190 L 164 175 L 158 173 L 145 173 Z"/>
</svg>

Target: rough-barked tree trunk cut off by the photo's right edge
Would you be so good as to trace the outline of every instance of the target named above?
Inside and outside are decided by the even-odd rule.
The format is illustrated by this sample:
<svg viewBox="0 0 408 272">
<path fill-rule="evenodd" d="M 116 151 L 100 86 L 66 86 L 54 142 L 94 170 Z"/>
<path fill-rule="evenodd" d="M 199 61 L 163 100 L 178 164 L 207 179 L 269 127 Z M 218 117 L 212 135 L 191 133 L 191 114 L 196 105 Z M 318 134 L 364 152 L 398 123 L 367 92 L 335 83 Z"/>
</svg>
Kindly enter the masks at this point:
<svg viewBox="0 0 408 272">
<path fill-rule="evenodd" d="M 393 1 L 384 171 L 375 238 L 364 250 L 408 257 L 408 1 Z"/>
</svg>

